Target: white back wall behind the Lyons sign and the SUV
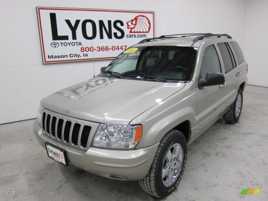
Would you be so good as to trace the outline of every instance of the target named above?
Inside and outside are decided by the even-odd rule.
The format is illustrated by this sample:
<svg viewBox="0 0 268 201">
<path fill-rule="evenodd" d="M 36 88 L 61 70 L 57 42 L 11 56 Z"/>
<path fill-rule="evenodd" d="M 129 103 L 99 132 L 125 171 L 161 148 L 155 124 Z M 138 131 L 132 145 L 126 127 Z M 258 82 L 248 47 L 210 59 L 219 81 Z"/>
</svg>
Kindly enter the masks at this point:
<svg viewBox="0 0 268 201">
<path fill-rule="evenodd" d="M 154 11 L 156 36 L 228 33 L 243 48 L 244 0 L 1 0 L 0 124 L 35 118 L 42 98 L 93 76 L 92 61 L 42 64 L 36 6 Z M 109 62 L 95 61 L 95 74 Z"/>
</svg>

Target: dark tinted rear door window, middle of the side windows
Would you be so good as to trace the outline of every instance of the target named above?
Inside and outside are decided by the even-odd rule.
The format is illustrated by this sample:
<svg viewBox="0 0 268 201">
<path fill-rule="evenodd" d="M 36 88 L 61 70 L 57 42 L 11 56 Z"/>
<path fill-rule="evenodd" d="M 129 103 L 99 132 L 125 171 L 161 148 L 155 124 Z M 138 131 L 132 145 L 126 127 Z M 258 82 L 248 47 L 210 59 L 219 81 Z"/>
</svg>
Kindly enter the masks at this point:
<svg viewBox="0 0 268 201">
<path fill-rule="evenodd" d="M 222 60 L 224 63 L 225 73 L 233 69 L 236 66 L 235 59 L 233 58 L 233 53 L 230 47 L 226 43 L 218 43 L 219 51 L 221 52 Z M 232 57 L 231 57 L 232 55 Z"/>
</svg>

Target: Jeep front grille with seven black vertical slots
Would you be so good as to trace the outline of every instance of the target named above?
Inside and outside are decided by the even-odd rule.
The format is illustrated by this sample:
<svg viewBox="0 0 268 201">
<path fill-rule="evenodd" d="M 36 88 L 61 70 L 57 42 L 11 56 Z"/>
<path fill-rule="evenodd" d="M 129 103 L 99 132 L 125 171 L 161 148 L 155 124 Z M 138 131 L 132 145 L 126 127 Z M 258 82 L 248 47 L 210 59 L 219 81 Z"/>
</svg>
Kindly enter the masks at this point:
<svg viewBox="0 0 268 201">
<path fill-rule="evenodd" d="M 92 126 L 43 112 L 43 132 L 70 146 L 86 148 Z"/>
</svg>

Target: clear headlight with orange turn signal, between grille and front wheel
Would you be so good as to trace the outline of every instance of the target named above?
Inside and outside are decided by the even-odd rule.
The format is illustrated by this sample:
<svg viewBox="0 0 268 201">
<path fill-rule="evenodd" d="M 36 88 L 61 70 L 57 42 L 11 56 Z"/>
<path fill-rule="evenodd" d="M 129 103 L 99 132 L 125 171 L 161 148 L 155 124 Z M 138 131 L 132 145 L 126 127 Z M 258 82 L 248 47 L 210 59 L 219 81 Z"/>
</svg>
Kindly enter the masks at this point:
<svg viewBox="0 0 268 201">
<path fill-rule="evenodd" d="M 101 124 L 94 136 L 93 147 L 116 149 L 135 148 L 142 138 L 141 125 Z"/>
</svg>

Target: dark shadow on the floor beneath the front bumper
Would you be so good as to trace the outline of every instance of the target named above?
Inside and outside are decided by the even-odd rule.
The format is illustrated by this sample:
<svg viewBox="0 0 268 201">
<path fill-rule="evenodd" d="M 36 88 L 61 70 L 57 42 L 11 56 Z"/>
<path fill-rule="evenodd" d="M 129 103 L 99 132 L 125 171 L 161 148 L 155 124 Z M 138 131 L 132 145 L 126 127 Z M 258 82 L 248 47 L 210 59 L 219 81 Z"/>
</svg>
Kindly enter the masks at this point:
<svg viewBox="0 0 268 201">
<path fill-rule="evenodd" d="M 73 165 L 68 167 L 57 164 L 67 184 L 82 198 L 88 200 L 158 200 L 145 193 L 138 181 L 113 180 L 89 173 Z M 64 188 L 62 186 L 62 188 Z M 60 189 L 59 189 L 60 190 Z"/>
</svg>

